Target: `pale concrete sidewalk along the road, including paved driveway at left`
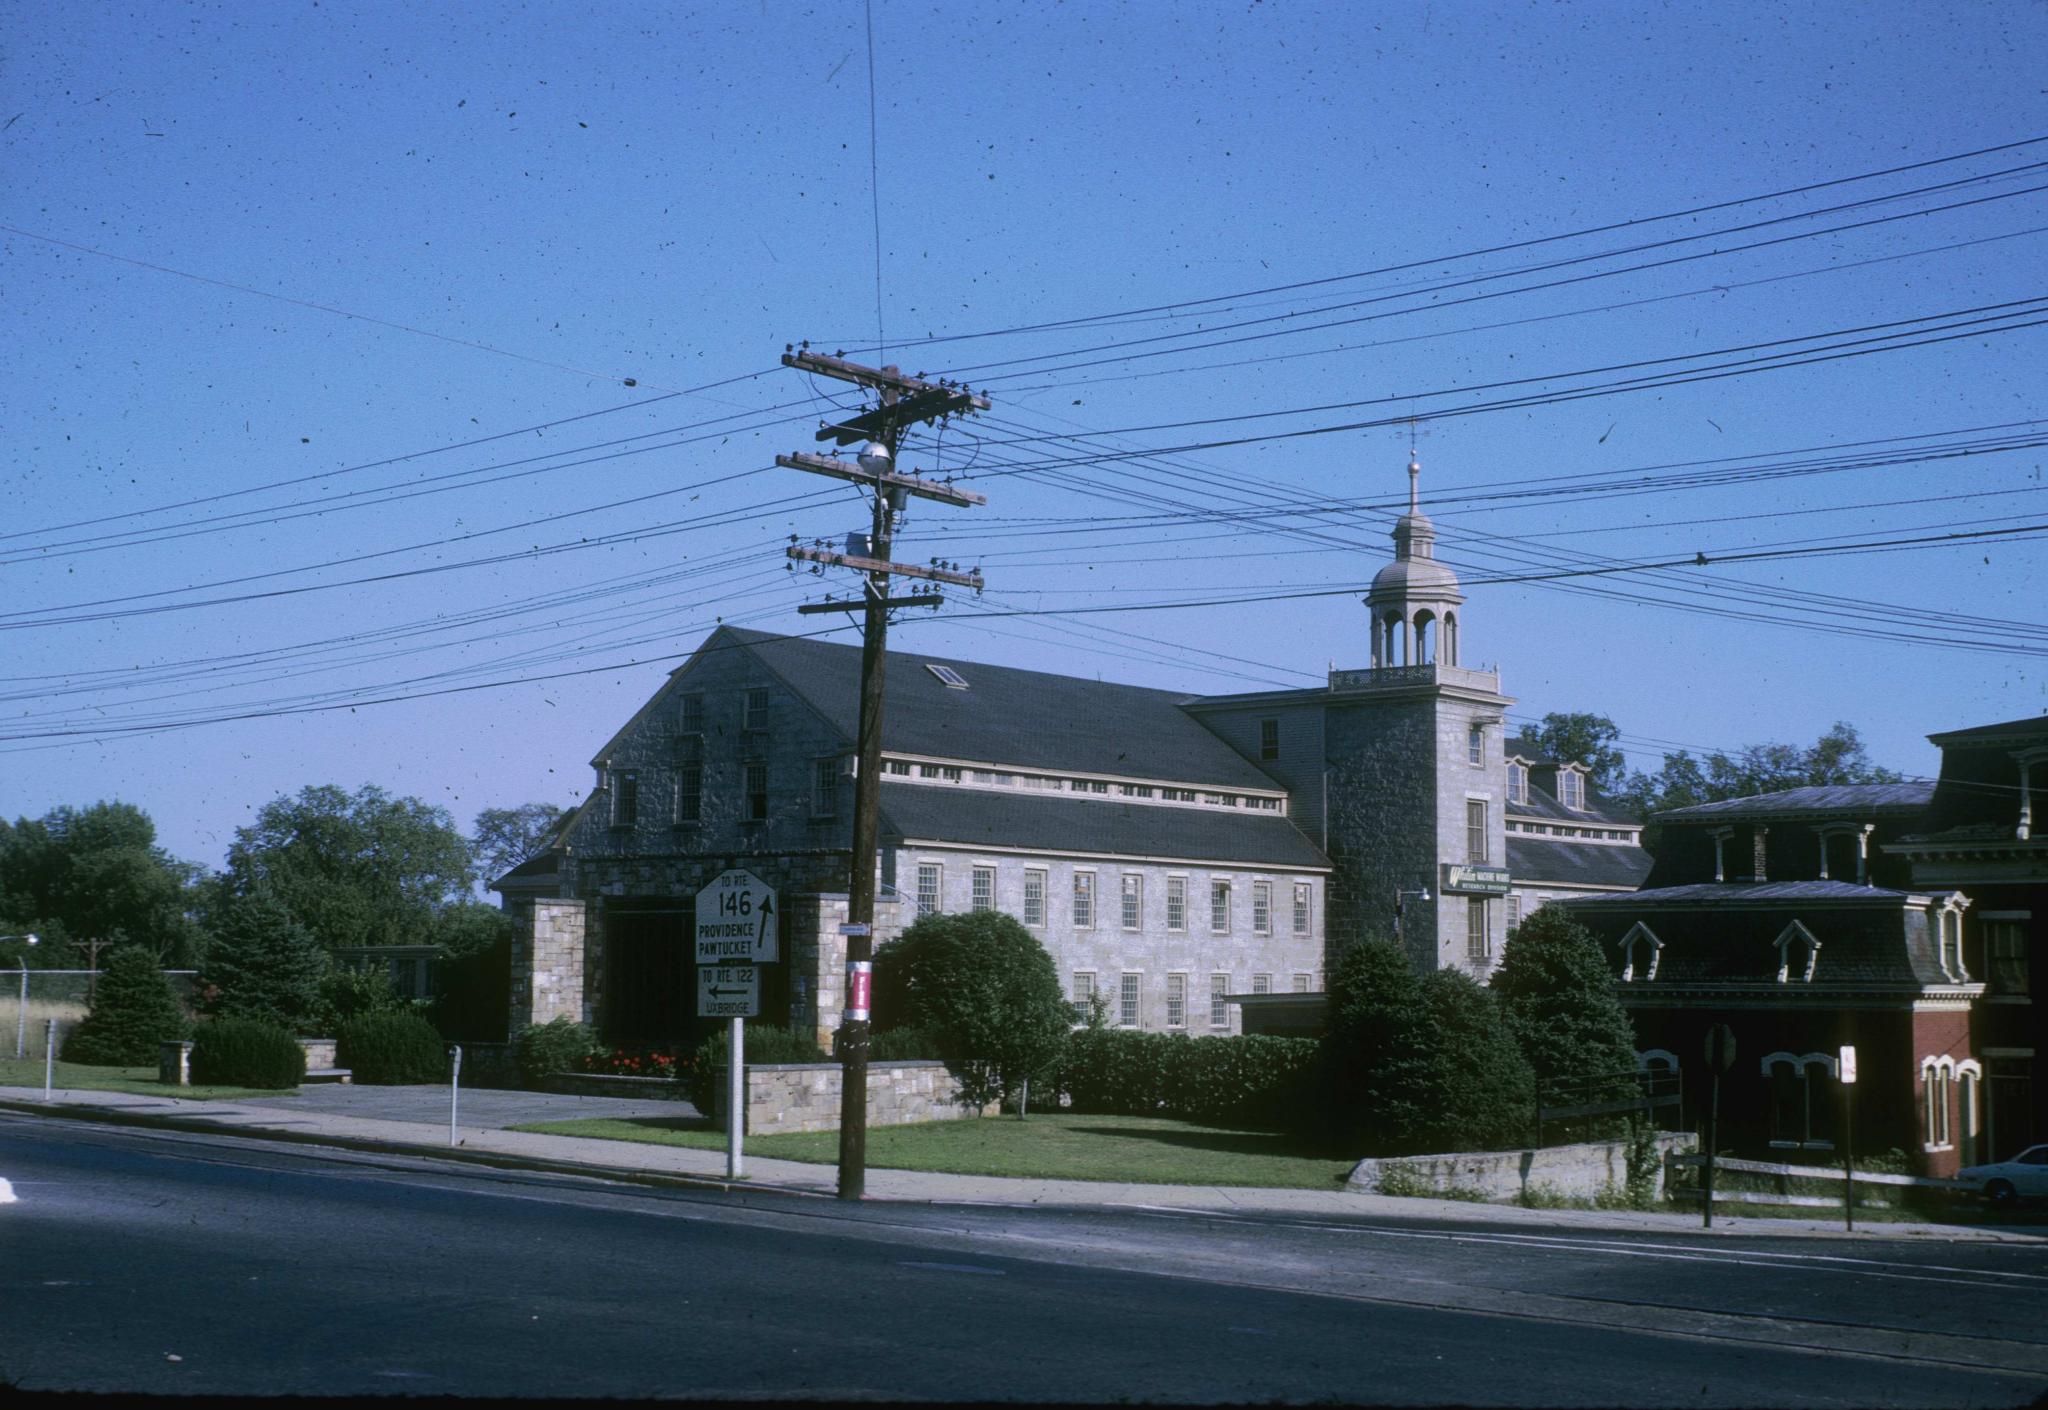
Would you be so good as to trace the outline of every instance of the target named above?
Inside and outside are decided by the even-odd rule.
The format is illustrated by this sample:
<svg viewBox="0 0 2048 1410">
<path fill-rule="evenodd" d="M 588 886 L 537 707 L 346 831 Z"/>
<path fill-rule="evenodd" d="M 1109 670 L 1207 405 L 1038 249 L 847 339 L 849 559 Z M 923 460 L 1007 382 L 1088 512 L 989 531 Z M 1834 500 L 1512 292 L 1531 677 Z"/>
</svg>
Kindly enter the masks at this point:
<svg viewBox="0 0 2048 1410">
<path fill-rule="evenodd" d="M 334 1088 L 334 1092 L 350 1088 Z M 143 1096 L 135 1092 L 96 1092 L 57 1088 L 43 1101 L 39 1088 L 0 1086 L 0 1111 L 41 1115 L 72 1121 L 115 1125 L 145 1125 L 176 1131 L 203 1131 L 276 1139 L 303 1146 L 330 1146 L 356 1152 L 453 1158 L 498 1168 L 598 1174 L 659 1185 L 690 1185 L 727 1191 L 780 1193 L 797 1199 L 829 1199 L 838 1187 L 834 1166 L 797 1160 L 766 1160 L 745 1156 L 745 1176 L 725 1178 L 723 1150 L 690 1150 L 682 1146 L 641 1146 L 578 1135 L 539 1135 L 506 1131 L 492 1117 L 510 1115 L 516 1121 L 567 1119 L 571 1115 L 649 1115 L 651 1103 L 623 1103 L 604 1096 L 551 1098 L 537 1092 L 463 1092 L 463 1121 L 457 1144 L 449 1144 L 446 1088 L 352 1088 L 358 1096 L 328 1094 L 319 1103 L 297 1098 L 256 1101 L 186 1101 Z M 397 1092 L 397 1101 L 389 1094 Z M 436 1094 L 438 1109 L 428 1115 L 426 1094 Z M 387 1101 L 379 1101 L 385 1096 Z M 498 1098 L 494 1103 L 494 1098 Z M 532 1103 L 549 1111 L 530 1111 Z M 358 1105 L 365 1115 L 340 1107 Z M 492 1111 L 492 1107 L 502 1111 Z M 477 1107 L 471 1113 L 471 1107 Z M 367 1115 L 369 1111 L 401 1111 Z M 657 1115 L 684 1115 L 678 1103 L 657 1105 Z M 471 1115 L 481 1117 L 473 1121 Z M 6 1174 L 0 1168 L 0 1174 Z M 1346 1189 L 1245 1189 L 1219 1185 L 1112 1185 L 1098 1180 L 1020 1180 L 981 1174 L 934 1174 L 926 1170 L 870 1168 L 866 1178 L 870 1201 L 901 1201 L 930 1205 L 1040 1205 L 1073 1209 L 1174 1209 L 1202 1213 L 1235 1213 L 1255 1217 L 1341 1217 L 1358 1219 L 1432 1219 L 1440 1224 L 1513 1226 L 1554 1232 L 1663 1232 L 1686 1238 L 1714 1236 L 1776 1236 L 1776 1238 L 1849 1238 L 1839 1219 L 1759 1219 L 1753 1215 L 1718 1213 L 1714 1228 L 1702 1230 L 1698 1215 L 1638 1213 L 1628 1209 L 1522 1209 L 1518 1205 L 1473 1205 L 1450 1199 L 1397 1199 L 1362 1195 Z M 1937 1224 L 1870 1224 L 1853 1238 L 1909 1238 L 1919 1242 L 2044 1242 L 2048 1228 L 1952 1228 Z"/>
</svg>

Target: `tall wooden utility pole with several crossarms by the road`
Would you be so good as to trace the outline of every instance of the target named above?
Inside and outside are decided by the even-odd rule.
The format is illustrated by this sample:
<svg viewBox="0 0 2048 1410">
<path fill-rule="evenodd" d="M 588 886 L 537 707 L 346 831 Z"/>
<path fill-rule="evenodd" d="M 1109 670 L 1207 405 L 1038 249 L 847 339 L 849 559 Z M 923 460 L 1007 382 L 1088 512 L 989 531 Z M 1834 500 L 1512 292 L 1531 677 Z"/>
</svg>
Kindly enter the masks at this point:
<svg viewBox="0 0 2048 1410">
<path fill-rule="evenodd" d="M 846 551 L 791 545 L 793 559 L 852 568 L 862 574 L 860 603 L 805 603 L 803 613 L 860 611 L 860 728 L 854 764 L 854 855 L 846 902 L 846 1006 L 840 1021 L 840 1199 L 860 1199 L 868 1178 L 868 1000 L 874 976 L 874 855 L 881 842 L 883 783 L 883 668 L 889 648 L 889 609 L 936 605 L 936 592 L 889 596 L 889 578 L 922 578 L 952 582 L 981 590 L 981 572 L 961 572 L 954 566 L 924 568 L 897 564 L 889 557 L 895 537 L 895 516 L 909 496 L 942 504 L 975 506 L 987 500 L 969 490 L 956 490 L 936 480 L 899 475 L 897 445 L 903 428 L 989 410 L 987 398 L 965 387 L 905 377 L 895 367 L 860 367 L 840 357 L 801 350 L 784 352 L 784 367 L 797 367 L 823 377 L 838 377 L 881 393 L 881 406 L 844 422 L 819 426 L 819 441 L 838 445 L 864 443 L 858 461 L 829 455 L 778 455 L 776 465 L 805 469 L 815 475 L 852 480 L 872 490 L 872 529 L 864 545 L 848 543 Z M 854 549 L 864 551 L 854 551 Z"/>
</svg>

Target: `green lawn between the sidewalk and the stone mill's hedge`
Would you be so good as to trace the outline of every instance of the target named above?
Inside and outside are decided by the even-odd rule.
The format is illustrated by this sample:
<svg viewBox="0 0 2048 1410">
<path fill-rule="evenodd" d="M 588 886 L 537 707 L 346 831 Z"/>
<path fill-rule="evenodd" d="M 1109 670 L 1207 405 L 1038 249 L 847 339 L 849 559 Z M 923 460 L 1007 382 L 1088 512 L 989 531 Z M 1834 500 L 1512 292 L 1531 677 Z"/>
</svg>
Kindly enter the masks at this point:
<svg viewBox="0 0 2048 1410">
<path fill-rule="evenodd" d="M 705 1119 L 598 1117 L 512 1127 L 547 1135 L 725 1150 L 725 1131 Z M 838 1131 L 752 1135 L 748 1154 L 834 1164 Z M 1352 1162 L 1317 1156 L 1272 1131 L 1165 1121 L 1159 1117 L 979 1117 L 868 1127 L 868 1164 L 885 1170 L 1006 1174 L 1040 1180 L 1133 1180 L 1143 1185 L 1260 1185 L 1337 1189 Z"/>
</svg>

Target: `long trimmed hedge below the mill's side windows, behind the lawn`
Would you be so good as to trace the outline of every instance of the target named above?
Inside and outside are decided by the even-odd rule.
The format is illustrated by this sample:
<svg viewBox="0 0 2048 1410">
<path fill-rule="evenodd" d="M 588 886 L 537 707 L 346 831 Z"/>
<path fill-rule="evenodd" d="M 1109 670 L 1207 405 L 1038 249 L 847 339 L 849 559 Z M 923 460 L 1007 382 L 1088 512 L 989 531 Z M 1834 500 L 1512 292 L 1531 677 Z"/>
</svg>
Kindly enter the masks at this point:
<svg viewBox="0 0 2048 1410">
<path fill-rule="evenodd" d="M 1317 1053 L 1307 1037 L 1079 1029 L 1053 1080 L 1032 1082 L 1032 1105 L 1051 1109 L 1065 1092 L 1077 1113 L 1298 1129 L 1315 1103 Z"/>
</svg>

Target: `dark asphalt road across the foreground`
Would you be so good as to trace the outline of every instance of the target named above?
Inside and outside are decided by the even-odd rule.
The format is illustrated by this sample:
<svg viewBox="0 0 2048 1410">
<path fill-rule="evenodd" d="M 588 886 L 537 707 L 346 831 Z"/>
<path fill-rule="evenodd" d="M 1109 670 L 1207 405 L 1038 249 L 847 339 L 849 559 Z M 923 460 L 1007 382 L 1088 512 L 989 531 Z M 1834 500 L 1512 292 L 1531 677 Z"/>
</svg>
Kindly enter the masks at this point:
<svg viewBox="0 0 2048 1410">
<path fill-rule="evenodd" d="M 0 1383 L 2015 1406 L 2038 1244 L 662 1191 L 0 1117 Z"/>
</svg>

